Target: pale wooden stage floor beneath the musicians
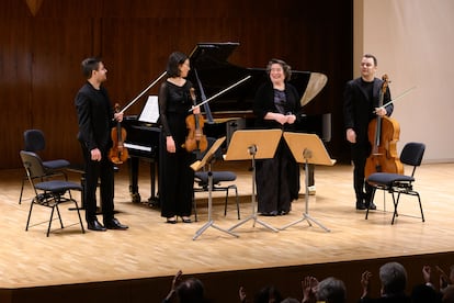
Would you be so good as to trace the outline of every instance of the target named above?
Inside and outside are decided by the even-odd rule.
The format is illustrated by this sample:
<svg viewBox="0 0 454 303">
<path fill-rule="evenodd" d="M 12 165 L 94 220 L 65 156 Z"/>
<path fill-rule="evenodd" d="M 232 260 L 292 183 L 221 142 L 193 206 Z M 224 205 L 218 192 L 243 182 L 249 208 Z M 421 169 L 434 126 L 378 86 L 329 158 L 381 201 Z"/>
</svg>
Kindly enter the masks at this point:
<svg viewBox="0 0 454 303">
<path fill-rule="evenodd" d="M 214 166 L 216 169 L 231 169 L 238 173 L 241 218 L 251 214 L 249 167 L 248 161 Z M 149 176 L 145 162 L 140 169 L 140 194 L 146 200 L 149 195 Z M 78 175 L 69 176 L 71 180 L 79 181 Z M 310 195 L 308 203 L 309 215 L 330 232 L 318 225 L 308 226 L 307 221 L 304 221 L 275 233 L 260 224 L 253 227 L 250 221 L 234 229 L 238 238 L 208 227 L 195 240 L 193 237 L 196 231 L 207 222 L 206 195 L 196 194 L 198 222 L 166 224 L 159 210 L 145 203 L 130 202 L 126 166 L 122 166 L 115 175 L 115 207 L 118 211 L 116 217 L 129 225 L 128 231 L 88 231 L 81 234 L 80 227 L 73 225 L 55 231 L 46 237 L 46 225 L 38 225 L 25 232 L 32 191 L 26 187 L 26 199 L 18 204 L 22 177 L 22 169 L 0 171 L 0 289 L 166 277 L 166 289 L 150 291 L 162 298 L 167 293 L 167 285 L 170 285 L 169 277 L 179 269 L 191 276 L 454 250 L 454 164 L 425 164 L 417 170 L 416 189 L 422 198 L 424 223 L 419 217 L 417 199 L 402 197 L 400 216 L 391 225 L 391 199 L 387 194 L 384 201 L 382 192 L 378 192 L 375 200 L 378 211 L 371 212 L 370 218 L 364 220 L 365 212 L 354 209 L 352 168 L 336 165 L 316 168 L 317 193 Z M 213 220 L 217 226 L 228 229 L 239 221 L 234 199 L 229 202 L 227 216 L 224 216 L 219 203 L 222 195 L 219 192 L 214 193 Z M 384 207 L 388 212 L 381 211 Z M 302 194 L 293 203 L 288 215 L 259 218 L 279 228 L 300 218 L 304 210 L 305 198 Z M 33 222 L 44 221 L 49 215 L 48 211 L 36 207 Z M 406 216 L 407 214 L 415 217 Z M 77 223 L 76 212 L 64 206 L 63 220 L 67 225 Z M 55 222 L 54 226 L 57 227 L 58 223 Z M 300 272 L 299 276 L 305 273 Z M 356 280 L 360 277 L 353 277 L 353 281 Z M 297 289 L 299 281 L 294 282 Z M 241 279 L 234 283 L 241 283 Z M 262 284 L 266 283 L 266 277 L 263 277 Z M 237 293 L 236 288 L 230 291 Z M 149 302 L 159 300 L 151 299 Z"/>
</svg>

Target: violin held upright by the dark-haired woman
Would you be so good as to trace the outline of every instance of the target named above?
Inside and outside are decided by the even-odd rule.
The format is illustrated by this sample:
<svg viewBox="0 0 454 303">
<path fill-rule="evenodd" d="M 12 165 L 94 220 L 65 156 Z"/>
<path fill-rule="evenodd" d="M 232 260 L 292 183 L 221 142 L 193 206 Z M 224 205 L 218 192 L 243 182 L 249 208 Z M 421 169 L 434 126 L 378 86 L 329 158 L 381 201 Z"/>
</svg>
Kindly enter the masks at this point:
<svg viewBox="0 0 454 303">
<path fill-rule="evenodd" d="M 197 105 L 195 101 L 194 88 L 190 89 L 190 93 L 194 105 Z M 188 136 L 182 147 L 184 147 L 189 153 L 194 150 L 204 152 L 208 146 L 208 143 L 206 141 L 206 136 L 203 134 L 203 125 L 205 121 L 202 114 L 190 114 L 186 116 L 185 122 Z"/>
</svg>

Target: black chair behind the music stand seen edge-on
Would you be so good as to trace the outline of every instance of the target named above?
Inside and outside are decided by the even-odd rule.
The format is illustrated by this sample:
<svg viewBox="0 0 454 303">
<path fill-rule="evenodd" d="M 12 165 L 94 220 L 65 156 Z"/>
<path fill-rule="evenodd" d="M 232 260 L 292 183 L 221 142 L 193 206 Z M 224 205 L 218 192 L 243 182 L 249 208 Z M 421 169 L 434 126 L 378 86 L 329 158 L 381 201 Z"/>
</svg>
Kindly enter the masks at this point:
<svg viewBox="0 0 454 303">
<path fill-rule="evenodd" d="M 216 142 L 216 138 L 207 137 L 208 147 L 206 148 L 205 153 L 209 150 L 209 148 L 213 146 L 213 144 Z M 200 158 L 202 159 L 205 156 L 205 153 L 202 153 Z M 215 160 L 223 160 L 223 153 L 220 149 L 216 150 L 213 161 Z M 227 184 L 223 186 L 224 182 L 232 182 L 237 179 L 237 175 L 232 171 L 216 171 L 212 170 L 212 178 L 213 178 L 213 189 L 212 191 L 225 191 L 226 192 L 226 199 L 224 203 L 224 215 L 227 215 L 227 202 L 228 202 L 228 193 L 229 190 L 235 190 L 236 195 L 236 202 L 237 202 L 237 216 L 238 220 L 240 218 L 240 209 L 239 209 L 239 198 L 238 198 L 238 188 L 234 184 Z M 202 170 L 202 171 L 195 171 L 194 173 L 194 181 L 196 187 L 194 187 L 194 193 L 195 192 L 208 192 L 208 170 Z M 195 221 L 197 221 L 197 209 L 196 203 L 194 199 L 194 214 L 195 214 Z"/>
</svg>

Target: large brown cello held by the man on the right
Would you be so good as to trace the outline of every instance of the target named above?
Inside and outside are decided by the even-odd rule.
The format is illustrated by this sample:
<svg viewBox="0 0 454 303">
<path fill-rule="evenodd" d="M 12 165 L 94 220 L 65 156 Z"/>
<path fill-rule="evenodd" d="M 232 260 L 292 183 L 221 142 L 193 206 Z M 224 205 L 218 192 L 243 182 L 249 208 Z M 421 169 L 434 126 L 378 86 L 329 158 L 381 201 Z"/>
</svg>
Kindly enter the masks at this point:
<svg viewBox="0 0 454 303">
<path fill-rule="evenodd" d="M 388 76 L 384 75 L 382 80 L 378 108 L 383 106 L 383 99 L 389 82 Z M 366 159 L 364 171 L 366 178 L 374 172 L 404 173 L 404 166 L 397 156 L 399 135 L 400 126 L 395 119 L 377 115 L 370 122 L 367 136 L 372 153 Z"/>
</svg>

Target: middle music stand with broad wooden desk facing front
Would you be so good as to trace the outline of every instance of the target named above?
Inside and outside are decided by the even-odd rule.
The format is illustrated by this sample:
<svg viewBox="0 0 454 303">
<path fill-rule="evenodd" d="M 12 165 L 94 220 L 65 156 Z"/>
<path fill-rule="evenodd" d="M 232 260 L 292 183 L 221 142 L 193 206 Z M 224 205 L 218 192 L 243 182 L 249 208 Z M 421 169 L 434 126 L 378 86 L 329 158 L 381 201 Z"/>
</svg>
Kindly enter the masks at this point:
<svg viewBox="0 0 454 303">
<path fill-rule="evenodd" d="M 251 159 L 252 161 L 252 214 L 238 224 L 231 226 L 228 231 L 232 231 L 246 222 L 253 220 L 253 227 L 256 226 L 257 222 L 273 232 L 279 232 L 277 228 L 257 218 L 256 159 L 273 158 L 281 137 L 281 130 L 239 130 L 236 131 L 231 136 L 227 154 L 225 155 L 225 160 Z"/>
</svg>

